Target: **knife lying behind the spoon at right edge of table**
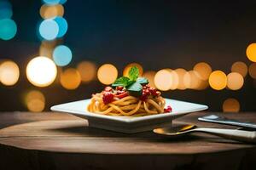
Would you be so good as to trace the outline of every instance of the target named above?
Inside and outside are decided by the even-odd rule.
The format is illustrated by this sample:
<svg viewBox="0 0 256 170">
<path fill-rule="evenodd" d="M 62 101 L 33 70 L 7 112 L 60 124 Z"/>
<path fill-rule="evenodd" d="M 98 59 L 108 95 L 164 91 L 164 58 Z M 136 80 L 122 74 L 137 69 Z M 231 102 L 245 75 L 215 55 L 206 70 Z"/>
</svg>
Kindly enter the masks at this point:
<svg viewBox="0 0 256 170">
<path fill-rule="evenodd" d="M 202 117 L 199 117 L 198 120 L 202 122 L 214 122 L 219 124 L 232 125 L 236 127 L 245 127 L 248 129 L 256 130 L 256 123 L 241 122 L 235 119 L 229 119 L 224 116 L 217 116 L 217 115 L 202 116 Z"/>
</svg>

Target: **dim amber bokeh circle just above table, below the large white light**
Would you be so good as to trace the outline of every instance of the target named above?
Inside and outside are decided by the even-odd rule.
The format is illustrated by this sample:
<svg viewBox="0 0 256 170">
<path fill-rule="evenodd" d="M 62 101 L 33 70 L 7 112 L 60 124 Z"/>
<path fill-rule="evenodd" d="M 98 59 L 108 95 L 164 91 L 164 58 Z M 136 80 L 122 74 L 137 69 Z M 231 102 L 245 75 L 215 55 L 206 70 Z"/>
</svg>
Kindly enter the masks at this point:
<svg viewBox="0 0 256 170">
<path fill-rule="evenodd" d="M 28 111 L 40 112 L 44 111 L 45 97 L 42 92 L 38 90 L 32 90 L 26 94 L 26 107 Z"/>
</svg>

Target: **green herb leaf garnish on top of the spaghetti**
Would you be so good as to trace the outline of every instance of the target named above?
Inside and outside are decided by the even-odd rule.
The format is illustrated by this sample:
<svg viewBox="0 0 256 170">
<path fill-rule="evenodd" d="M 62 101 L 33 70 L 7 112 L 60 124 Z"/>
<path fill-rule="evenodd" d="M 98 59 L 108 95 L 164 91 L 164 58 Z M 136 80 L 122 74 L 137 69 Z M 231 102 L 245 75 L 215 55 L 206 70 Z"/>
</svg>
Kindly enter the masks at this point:
<svg viewBox="0 0 256 170">
<path fill-rule="evenodd" d="M 139 77 L 137 66 L 131 67 L 128 77 L 119 77 L 113 82 L 113 87 L 122 86 L 128 90 L 131 95 L 139 96 L 143 93 L 143 85 L 148 84 L 148 79 Z"/>
</svg>

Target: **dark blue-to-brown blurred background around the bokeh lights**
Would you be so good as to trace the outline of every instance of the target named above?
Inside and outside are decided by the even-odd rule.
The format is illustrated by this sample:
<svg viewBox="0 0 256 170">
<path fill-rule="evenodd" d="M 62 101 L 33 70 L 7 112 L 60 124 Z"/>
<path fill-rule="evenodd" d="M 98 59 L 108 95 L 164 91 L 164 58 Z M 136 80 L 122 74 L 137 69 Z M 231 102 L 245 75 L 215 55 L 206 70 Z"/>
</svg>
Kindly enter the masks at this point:
<svg viewBox="0 0 256 170">
<path fill-rule="evenodd" d="M 18 31 L 9 41 L 0 40 L 0 59 L 13 59 L 20 66 L 20 80 L 14 87 L 0 84 L 0 111 L 26 111 L 24 94 L 41 90 L 50 105 L 86 99 L 102 89 L 98 82 L 66 90 L 60 84 L 36 88 L 26 79 L 26 64 L 38 55 L 37 36 L 41 19 L 39 0 L 12 0 L 13 20 Z M 247 45 L 256 42 L 256 2 L 253 1 L 113 1 L 67 0 L 64 17 L 68 31 L 63 43 L 73 50 L 70 66 L 81 60 L 97 65 L 111 63 L 119 73 L 125 65 L 137 62 L 145 71 L 161 68 L 191 70 L 205 61 L 212 70 L 230 72 L 231 65 L 241 60 L 247 65 Z M 1 29 L 1 28 L 0 28 Z M 255 82 L 255 81 L 254 81 Z M 221 111 L 224 99 L 236 98 L 241 111 L 255 111 L 256 88 L 247 75 L 243 88 L 175 90 L 163 93 L 172 99 L 183 99 Z"/>
</svg>

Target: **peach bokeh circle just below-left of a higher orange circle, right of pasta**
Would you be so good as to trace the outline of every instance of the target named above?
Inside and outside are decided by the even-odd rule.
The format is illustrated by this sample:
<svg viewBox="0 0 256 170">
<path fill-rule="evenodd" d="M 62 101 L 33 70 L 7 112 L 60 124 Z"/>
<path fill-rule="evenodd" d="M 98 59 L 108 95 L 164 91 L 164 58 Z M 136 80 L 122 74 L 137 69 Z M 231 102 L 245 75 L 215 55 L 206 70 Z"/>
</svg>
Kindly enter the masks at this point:
<svg viewBox="0 0 256 170">
<path fill-rule="evenodd" d="M 197 71 L 188 71 L 183 77 L 185 88 L 198 89 L 201 86 L 201 78 Z"/>
</svg>

